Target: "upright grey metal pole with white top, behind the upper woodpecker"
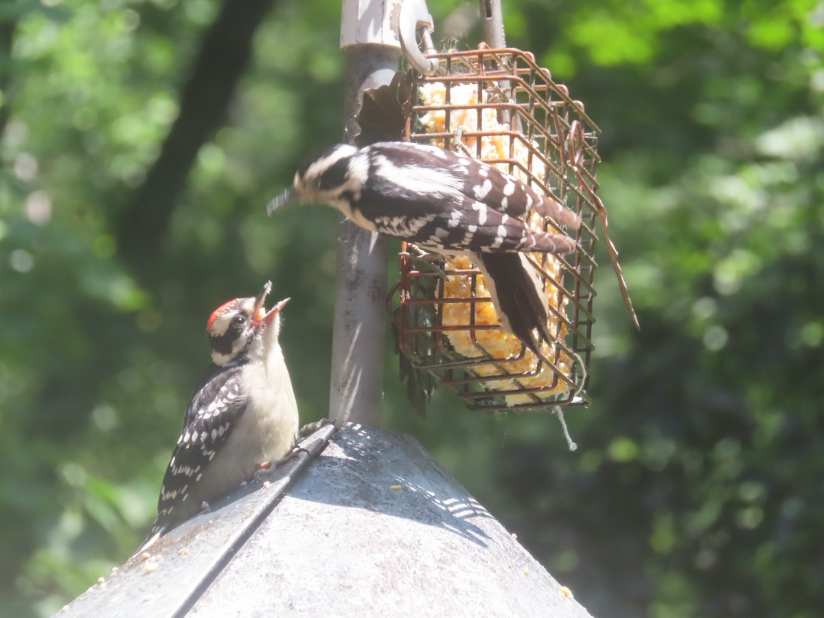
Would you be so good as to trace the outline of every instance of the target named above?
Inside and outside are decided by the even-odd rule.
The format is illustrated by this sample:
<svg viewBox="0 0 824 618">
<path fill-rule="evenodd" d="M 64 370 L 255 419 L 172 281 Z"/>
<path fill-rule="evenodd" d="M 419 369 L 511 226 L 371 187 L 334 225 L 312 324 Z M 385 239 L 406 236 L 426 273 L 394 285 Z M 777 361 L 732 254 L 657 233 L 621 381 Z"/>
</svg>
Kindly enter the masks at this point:
<svg viewBox="0 0 824 618">
<path fill-rule="evenodd" d="M 396 35 L 381 27 L 389 24 L 393 4 L 344 0 L 341 47 L 347 60 L 344 109 L 349 141 L 358 132 L 354 116 L 363 91 L 388 84 L 398 68 Z M 342 221 L 336 282 L 329 418 L 338 426 L 347 421 L 377 426 L 386 334 L 386 241 L 353 222 Z"/>
</svg>

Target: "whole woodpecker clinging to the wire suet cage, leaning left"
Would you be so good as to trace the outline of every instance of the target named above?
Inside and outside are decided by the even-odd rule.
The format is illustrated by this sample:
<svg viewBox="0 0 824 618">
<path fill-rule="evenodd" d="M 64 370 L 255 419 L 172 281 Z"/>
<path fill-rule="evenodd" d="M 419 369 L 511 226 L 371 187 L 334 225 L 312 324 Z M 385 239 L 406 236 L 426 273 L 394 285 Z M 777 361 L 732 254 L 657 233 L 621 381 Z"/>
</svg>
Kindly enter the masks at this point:
<svg viewBox="0 0 824 618">
<path fill-rule="evenodd" d="M 576 244 L 524 219 L 535 212 L 577 229 L 581 218 L 497 167 L 419 143 L 338 144 L 297 171 L 269 213 L 291 199 L 330 204 L 360 227 L 441 255 L 468 255 L 503 328 L 539 356 L 541 339 L 553 339 L 541 279 L 525 253 L 564 254 Z"/>
</svg>

